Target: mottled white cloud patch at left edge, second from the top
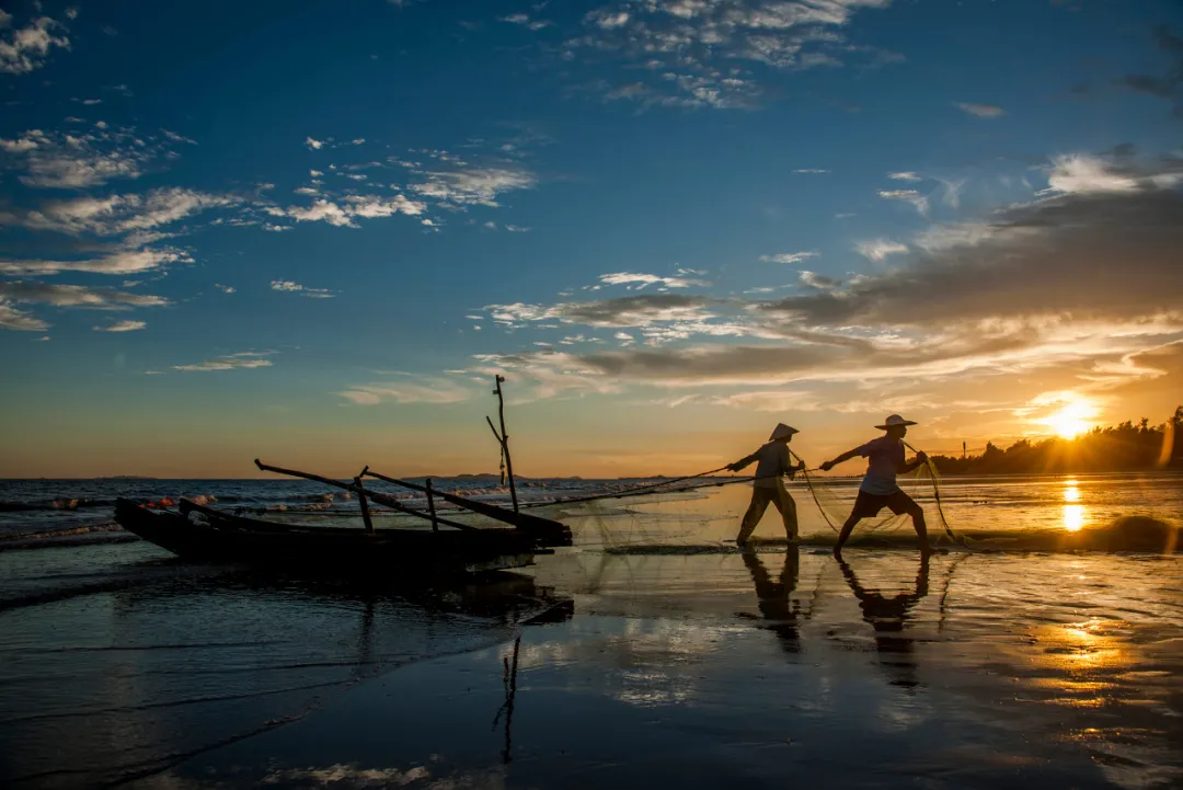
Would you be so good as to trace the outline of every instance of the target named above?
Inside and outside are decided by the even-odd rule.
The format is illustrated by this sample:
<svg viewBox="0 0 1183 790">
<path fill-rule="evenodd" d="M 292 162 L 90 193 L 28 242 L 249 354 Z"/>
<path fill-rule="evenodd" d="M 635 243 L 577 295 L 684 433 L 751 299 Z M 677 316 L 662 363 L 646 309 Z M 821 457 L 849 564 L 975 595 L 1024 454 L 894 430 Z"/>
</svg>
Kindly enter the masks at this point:
<svg viewBox="0 0 1183 790">
<path fill-rule="evenodd" d="M 175 157 L 155 135 L 141 136 L 134 128 L 101 128 L 70 132 L 30 129 L 13 140 L 0 140 L 0 149 L 13 155 L 27 187 L 79 189 L 116 179 L 138 179 L 155 162 Z"/>
</svg>

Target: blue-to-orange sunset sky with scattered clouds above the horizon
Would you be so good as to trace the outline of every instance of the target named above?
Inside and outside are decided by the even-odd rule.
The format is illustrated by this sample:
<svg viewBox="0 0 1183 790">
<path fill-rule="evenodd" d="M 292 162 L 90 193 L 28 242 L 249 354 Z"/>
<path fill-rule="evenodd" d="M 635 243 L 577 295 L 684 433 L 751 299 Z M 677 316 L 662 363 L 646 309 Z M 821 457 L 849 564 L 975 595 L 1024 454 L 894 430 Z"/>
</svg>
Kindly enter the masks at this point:
<svg viewBox="0 0 1183 790">
<path fill-rule="evenodd" d="M 529 477 L 1183 402 L 1175 0 L 0 8 L 0 477 L 494 471 L 496 374 Z"/>
</svg>

